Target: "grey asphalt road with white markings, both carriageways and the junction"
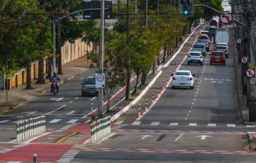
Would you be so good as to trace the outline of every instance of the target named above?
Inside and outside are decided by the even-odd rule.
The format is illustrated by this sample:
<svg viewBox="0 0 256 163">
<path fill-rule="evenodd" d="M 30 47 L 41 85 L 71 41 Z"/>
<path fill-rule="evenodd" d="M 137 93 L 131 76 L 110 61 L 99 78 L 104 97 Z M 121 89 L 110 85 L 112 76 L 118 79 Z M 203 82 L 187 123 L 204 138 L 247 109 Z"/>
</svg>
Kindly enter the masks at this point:
<svg viewBox="0 0 256 163">
<path fill-rule="evenodd" d="M 202 26 L 191 35 L 181 52 L 170 65 L 163 69 L 159 80 L 139 103 L 151 99 L 151 93 L 156 95 L 157 87 L 161 88 L 163 80 L 179 62 L 201 29 Z M 232 34 L 230 32 L 230 40 L 233 38 Z M 213 50 L 213 44 L 211 44 L 211 50 Z M 21 148 L 21 153 L 32 152 L 29 151 L 32 150 L 31 146 L 46 146 L 46 149 L 49 148 L 52 152 L 45 152 L 45 156 L 53 155 L 58 158 L 57 162 L 71 163 L 255 162 L 256 152 L 245 150 L 246 132 L 255 130 L 255 126 L 243 125 L 238 114 L 233 45 L 231 45 L 230 57 L 226 59 L 226 65 L 210 65 L 209 53 L 207 52 L 204 57 L 202 66 L 187 65 L 185 60 L 180 67 L 181 70 L 191 70 L 196 75 L 193 90 L 171 89 L 170 84 L 146 114 L 137 118 L 138 107 L 131 108 L 113 124 L 112 134 L 101 141 L 72 147 L 71 142 L 79 143 L 80 137 L 88 136 L 81 131 L 55 148 L 58 138 L 66 134 L 59 131 L 51 137 L 40 139 L 36 142 L 38 144 L 32 143 L 26 148 Z M 81 130 L 84 130 L 83 124 L 89 120 L 86 116 L 91 112 L 90 98 L 80 97 L 80 82 L 84 76 L 85 74 L 81 74 L 63 84 L 58 95 L 60 100 L 51 99 L 53 96 L 47 94 L 19 108 L 19 111 L 13 110 L 0 116 L 0 149 L 7 150 L 5 146 L 12 149 L 19 147 L 19 144 L 7 145 L 3 142 L 15 139 L 16 131 L 13 125 L 15 121 L 35 115 L 46 114 L 48 131 L 54 131 L 69 124 L 80 124 Z M 134 86 L 134 83 L 132 84 Z M 123 97 L 124 92 L 113 100 L 111 106 Z M 97 106 L 97 100 L 93 100 L 93 105 Z M 9 121 L 6 122 L 6 120 Z M 70 122 L 71 120 L 73 121 Z M 51 144 L 44 144 L 49 140 L 53 140 Z"/>
</svg>

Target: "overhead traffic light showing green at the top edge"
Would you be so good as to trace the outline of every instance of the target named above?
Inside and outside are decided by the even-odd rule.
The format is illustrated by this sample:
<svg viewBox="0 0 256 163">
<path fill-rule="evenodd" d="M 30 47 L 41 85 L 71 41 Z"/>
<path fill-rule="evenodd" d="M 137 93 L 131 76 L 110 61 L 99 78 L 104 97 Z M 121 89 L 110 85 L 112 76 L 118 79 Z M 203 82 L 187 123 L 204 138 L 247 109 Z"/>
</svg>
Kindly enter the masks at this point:
<svg viewBox="0 0 256 163">
<path fill-rule="evenodd" d="M 193 0 L 179 0 L 179 10 L 183 16 L 193 16 Z"/>
</svg>

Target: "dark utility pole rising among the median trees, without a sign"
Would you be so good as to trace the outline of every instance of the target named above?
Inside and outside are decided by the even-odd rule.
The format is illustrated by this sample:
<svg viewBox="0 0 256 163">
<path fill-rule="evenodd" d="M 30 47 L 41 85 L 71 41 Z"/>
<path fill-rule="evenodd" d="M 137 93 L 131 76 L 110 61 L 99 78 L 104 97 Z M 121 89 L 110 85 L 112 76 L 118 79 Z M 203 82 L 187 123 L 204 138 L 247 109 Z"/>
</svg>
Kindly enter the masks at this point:
<svg viewBox="0 0 256 163">
<path fill-rule="evenodd" d="M 129 23 L 130 23 L 130 18 L 129 18 L 129 0 L 127 0 L 127 22 L 126 22 L 126 34 L 127 34 L 127 43 L 129 43 Z M 126 100 L 130 99 L 130 54 L 129 52 L 127 53 L 127 85 L 126 85 Z"/>
</svg>

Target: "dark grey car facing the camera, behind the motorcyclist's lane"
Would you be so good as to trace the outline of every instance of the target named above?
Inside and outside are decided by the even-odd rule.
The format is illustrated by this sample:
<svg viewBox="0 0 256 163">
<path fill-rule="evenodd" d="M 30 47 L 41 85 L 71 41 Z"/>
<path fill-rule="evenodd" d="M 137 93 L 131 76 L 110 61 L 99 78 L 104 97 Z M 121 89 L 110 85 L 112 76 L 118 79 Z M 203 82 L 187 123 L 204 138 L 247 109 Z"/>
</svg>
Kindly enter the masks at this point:
<svg viewBox="0 0 256 163">
<path fill-rule="evenodd" d="M 83 85 L 81 89 L 82 97 L 98 95 L 98 89 L 96 88 L 95 83 L 96 81 L 94 76 L 89 76 L 85 78 L 84 82 L 81 83 Z"/>
</svg>

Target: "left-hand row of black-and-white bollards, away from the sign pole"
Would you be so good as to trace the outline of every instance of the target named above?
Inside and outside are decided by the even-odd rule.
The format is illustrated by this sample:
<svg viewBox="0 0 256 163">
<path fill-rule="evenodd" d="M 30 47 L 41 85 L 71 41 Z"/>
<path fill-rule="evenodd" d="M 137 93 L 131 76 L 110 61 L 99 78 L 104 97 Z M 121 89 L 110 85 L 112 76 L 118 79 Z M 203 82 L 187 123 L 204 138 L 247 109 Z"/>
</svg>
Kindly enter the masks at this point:
<svg viewBox="0 0 256 163">
<path fill-rule="evenodd" d="M 45 115 L 17 123 L 17 142 L 45 132 Z"/>
</svg>

